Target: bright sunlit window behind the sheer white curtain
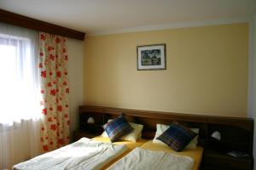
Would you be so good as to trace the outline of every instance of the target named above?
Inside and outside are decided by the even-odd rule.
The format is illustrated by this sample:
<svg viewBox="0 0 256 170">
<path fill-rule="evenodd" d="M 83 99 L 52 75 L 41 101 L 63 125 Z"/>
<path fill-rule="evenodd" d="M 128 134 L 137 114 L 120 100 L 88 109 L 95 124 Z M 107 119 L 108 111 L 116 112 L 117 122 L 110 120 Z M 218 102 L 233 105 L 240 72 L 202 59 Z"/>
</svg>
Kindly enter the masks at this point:
<svg viewBox="0 0 256 170">
<path fill-rule="evenodd" d="M 28 37 L 0 34 L 0 123 L 12 124 L 38 113 L 36 57 Z"/>
</svg>

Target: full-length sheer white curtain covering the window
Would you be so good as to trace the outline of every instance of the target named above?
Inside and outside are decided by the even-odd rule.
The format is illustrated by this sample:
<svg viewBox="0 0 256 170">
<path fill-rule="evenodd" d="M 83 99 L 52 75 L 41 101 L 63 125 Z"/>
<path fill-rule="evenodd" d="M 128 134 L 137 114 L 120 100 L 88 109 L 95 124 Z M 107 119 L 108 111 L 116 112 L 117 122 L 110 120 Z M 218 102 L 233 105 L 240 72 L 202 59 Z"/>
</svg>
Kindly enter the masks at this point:
<svg viewBox="0 0 256 170">
<path fill-rule="evenodd" d="M 38 32 L 0 23 L 0 169 L 40 152 Z"/>
</svg>

